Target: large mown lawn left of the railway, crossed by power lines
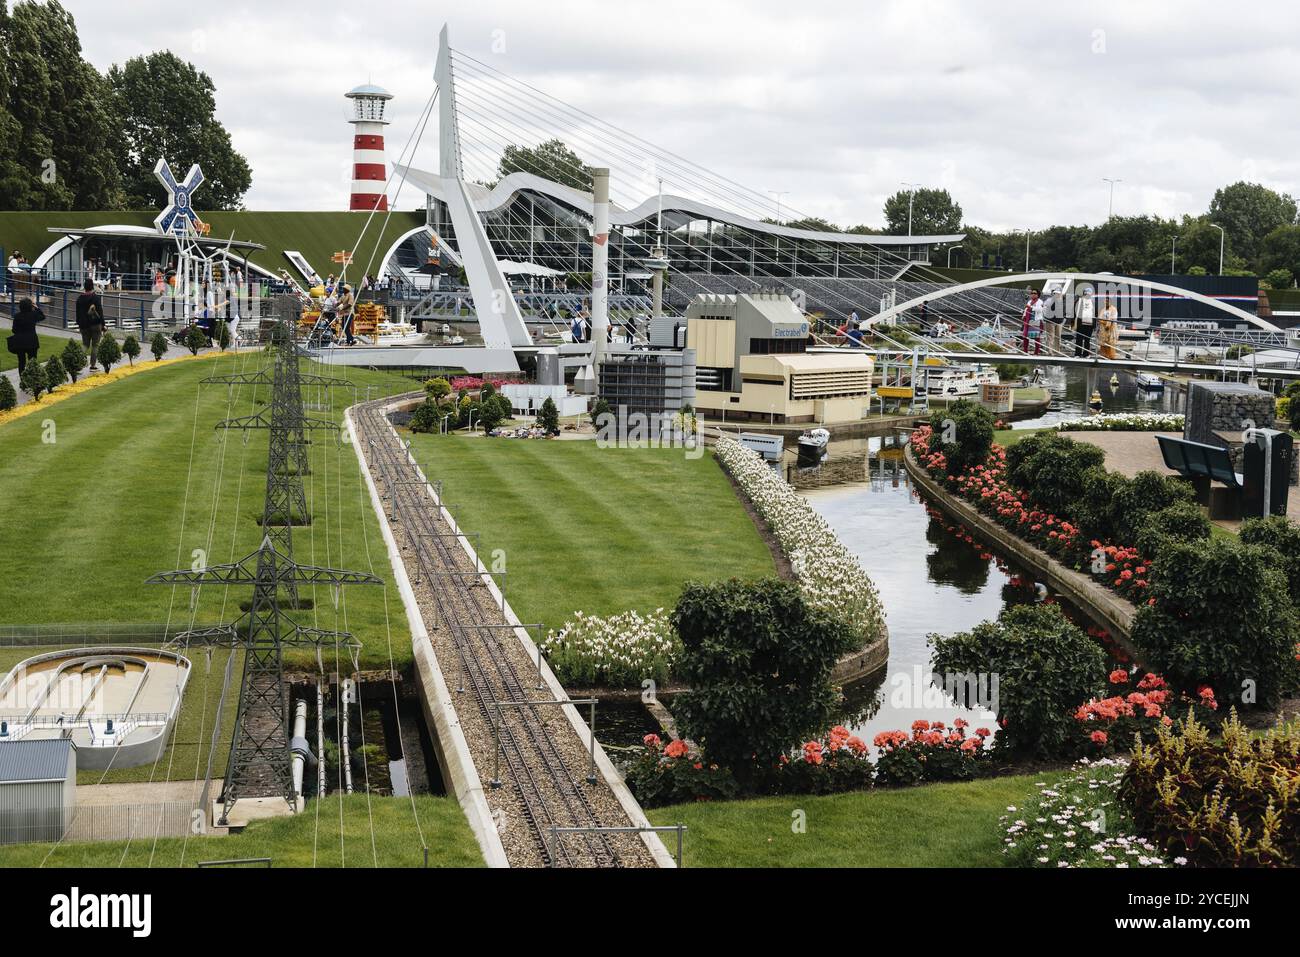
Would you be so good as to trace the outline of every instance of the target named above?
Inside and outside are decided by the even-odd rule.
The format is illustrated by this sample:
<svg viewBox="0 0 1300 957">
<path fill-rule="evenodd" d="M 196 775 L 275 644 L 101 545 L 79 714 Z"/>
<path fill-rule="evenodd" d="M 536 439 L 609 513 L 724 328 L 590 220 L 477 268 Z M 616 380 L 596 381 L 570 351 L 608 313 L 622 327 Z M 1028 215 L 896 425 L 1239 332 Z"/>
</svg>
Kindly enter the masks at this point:
<svg viewBox="0 0 1300 957">
<path fill-rule="evenodd" d="M 265 493 L 266 433 L 221 441 L 213 425 L 263 408 L 269 389 L 200 386 L 214 373 L 251 372 L 263 352 L 228 354 L 131 376 L 0 426 L 0 618 L 4 623 L 166 622 L 173 627 L 231 620 L 250 589 L 207 586 L 190 611 L 188 589 L 144 585 L 151 575 L 240 559 L 259 544 Z M 307 364 L 304 368 L 316 368 Z M 334 374 L 407 391 L 408 380 L 364 369 Z M 351 389 L 316 395 L 342 419 Z M 44 423 L 53 426 L 53 442 Z M 191 450 L 192 446 L 192 450 Z M 192 451 L 192 464 L 191 464 Z M 321 434 L 311 447 L 309 527 L 295 529 L 295 557 L 391 577 L 374 510 L 351 447 Z M 363 525 L 364 523 L 364 525 Z M 363 533 L 364 532 L 364 533 Z M 367 553 L 367 537 L 369 555 Z M 198 550 L 198 551 L 196 551 Z M 393 588 L 344 589 L 338 607 L 328 588 L 307 597 L 304 624 L 352 631 L 364 642 L 363 667 L 410 661 L 406 615 Z M 296 653 L 315 670 L 315 654 Z"/>
</svg>

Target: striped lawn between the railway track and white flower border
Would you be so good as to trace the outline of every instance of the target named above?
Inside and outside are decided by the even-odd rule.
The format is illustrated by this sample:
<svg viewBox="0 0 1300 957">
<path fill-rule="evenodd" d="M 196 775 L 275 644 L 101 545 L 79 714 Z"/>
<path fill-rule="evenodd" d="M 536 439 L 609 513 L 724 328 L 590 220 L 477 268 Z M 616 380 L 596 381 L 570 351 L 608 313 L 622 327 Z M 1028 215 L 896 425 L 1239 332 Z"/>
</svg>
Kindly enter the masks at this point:
<svg viewBox="0 0 1300 957">
<path fill-rule="evenodd" d="M 689 579 L 775 571 L 711 454 L 467 436 L 415 436 L 413 451 L 484 560 L 502 550 L 525 622 L 670 609 Z"/>
</svg>

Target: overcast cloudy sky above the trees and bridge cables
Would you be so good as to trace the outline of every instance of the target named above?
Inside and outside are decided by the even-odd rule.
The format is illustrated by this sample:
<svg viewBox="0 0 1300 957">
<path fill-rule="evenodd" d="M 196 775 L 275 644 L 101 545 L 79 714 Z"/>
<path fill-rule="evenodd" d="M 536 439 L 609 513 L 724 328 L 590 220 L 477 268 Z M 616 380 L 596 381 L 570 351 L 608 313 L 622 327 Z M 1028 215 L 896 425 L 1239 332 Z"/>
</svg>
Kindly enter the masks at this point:
<svg viewBox="0 0 1300 957">
<path fill-rule="evenodd" d="M 100 69 L 168 48 L 213 78 L 254 209 L 346 208 L 343 94 L 370 79 L 396 96 L 391 159 L 443 18 L 493 68 L 844 225 L 880 225 L 902 182 L 1004 229 L 1104 220 L 1102 177 L 1123 181 L 1117 213 L 1202 212 L 1236 179 L 1300 194 L 1290 0 L 64 4 Z M 415 165 L 437 166 L 433 125 Z"/>
</svg>

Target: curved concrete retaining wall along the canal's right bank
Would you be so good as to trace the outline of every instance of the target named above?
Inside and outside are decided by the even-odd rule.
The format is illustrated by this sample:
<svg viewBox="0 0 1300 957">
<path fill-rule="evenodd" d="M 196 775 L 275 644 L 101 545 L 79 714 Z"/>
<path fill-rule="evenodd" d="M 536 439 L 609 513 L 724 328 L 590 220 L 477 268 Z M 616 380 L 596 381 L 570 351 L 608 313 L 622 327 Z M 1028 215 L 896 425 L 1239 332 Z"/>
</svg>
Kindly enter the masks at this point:
<svg viewBox="0 0 1300 957">
<path fill-rule="evenodd" d="M 1091 618 L 1096 619 L 1098 624 L 1104 625 L 1110 632 L 1115 644 L 1123 648 L 1135 662 L 1140 661 L 1138 649 L 1131 641 L 1134 616 L 1138 614 L 1138 609 L 1132 602 L 1121 598 L 1109 588 L 1096 583 L 1083 572 L 1066 568 L 1048 553 L 1011 534 L 975 506 L 940 488 L 939 482 L 913 456 L 911 446 L 907 447 L 905 462 L 907 473 L 913 481 L 939 508 L 966 525 L 966 528 L 980 538 L 984 538 L 998 550 L 1010 555 L 1019 564 L 1034 571 L 1035 575 L 1045 580 L 1056 592 L 1065 596 L 1074 605 L 1078 605 Z"/>
</svg>

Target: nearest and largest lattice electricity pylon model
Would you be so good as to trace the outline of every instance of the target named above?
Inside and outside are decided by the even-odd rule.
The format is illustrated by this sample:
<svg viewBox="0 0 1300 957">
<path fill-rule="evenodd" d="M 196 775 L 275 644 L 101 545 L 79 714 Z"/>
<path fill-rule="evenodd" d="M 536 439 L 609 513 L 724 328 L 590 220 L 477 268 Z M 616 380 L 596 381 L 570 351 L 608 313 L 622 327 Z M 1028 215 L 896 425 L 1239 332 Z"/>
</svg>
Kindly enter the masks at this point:
<svg viewBox="0 0 1300 957">
<path fill-rule="evenodd" d="M 202 571 L 160 572 L 151 585 L 252 585 L 252 605 L 231 624 L 182 632 L 174 641 L 186 645 L 243 650 L 244 667 L 239 684 L 234 737 L 221 789 L 221 817 L 226 826 L 230 810 L 240 797 L 283 797 L 298 810 L 294 792 L 289 737 L 289 688 L 285 684 L 285 648 L 342 644 L 355 650 L 347 632 L 304 628 L 290 619 L 280 603 L 281 589 L 296 592 L 298 585 L 329 585 L 338 602 L 343 585 L 382 585 L 365 572 L 321 566 L 296 564 L 276 550 L 270 537 L 261 547 L 239 562 L 209 566 Z"/>
</svg>

